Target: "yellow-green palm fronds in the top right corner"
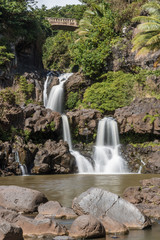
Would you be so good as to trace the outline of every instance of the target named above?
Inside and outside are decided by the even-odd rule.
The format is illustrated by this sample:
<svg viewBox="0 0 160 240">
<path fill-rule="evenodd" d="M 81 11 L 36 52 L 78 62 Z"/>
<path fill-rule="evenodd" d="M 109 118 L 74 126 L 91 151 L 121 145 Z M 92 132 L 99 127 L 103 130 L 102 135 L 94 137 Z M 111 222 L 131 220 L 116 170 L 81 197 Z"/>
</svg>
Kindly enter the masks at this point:
<svg viewBox="0 0 160 240">
<path fill-rule="evenodd" d="M 133 38 L 132 51 L 137 51 L 136 56 L 144 56 L 160 49 L 160 3 L 151 1 L 143 5 L 143 9 L 148 16 L 133 18 L 134 22 L 140 22 L 138 33 Z"/>
</svg>

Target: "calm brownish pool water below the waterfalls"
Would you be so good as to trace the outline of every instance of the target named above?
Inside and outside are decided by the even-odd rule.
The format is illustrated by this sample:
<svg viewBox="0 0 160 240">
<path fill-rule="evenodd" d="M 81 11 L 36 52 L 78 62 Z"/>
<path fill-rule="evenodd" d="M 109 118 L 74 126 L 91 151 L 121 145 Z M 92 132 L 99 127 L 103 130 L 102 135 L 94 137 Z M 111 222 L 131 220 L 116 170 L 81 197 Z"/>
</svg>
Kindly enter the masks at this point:
<svg viewBox="0 0 160 240">
<path fill-rule="evenodd" d="M 16 185 L 28 187 L 43 192 L 49 200 L 59 201 L 63 206 L 70 207 L 74 197 L 90 187 L 98 187 L 118 195 L 125 188 L 138 186 L 139 181 L 146 178 L 160 177 L 150 174 L 121 175 L 45 175 L 1 177 L 0 185 Z M 113 238 L 107 236 L 106 240 Z M 119 237 L 124 240 L 160 240 L 160 225 L 156 224 L 150 230 L 130 231 L 129 235 Z M 100 240 L 100 239 L 99 239 Z M 101 239 L 102 240 L 102 239 Z M 104 240 L 104 239 L 103 239 Z"/>
</svg>

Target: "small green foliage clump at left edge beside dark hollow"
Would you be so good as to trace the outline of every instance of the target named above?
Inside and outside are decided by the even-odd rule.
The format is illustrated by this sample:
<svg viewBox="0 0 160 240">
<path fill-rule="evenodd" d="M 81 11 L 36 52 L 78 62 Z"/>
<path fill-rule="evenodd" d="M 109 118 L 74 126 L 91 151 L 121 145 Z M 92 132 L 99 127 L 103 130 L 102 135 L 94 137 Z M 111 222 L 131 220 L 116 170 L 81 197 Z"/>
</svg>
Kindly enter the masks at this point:
<svg viewBox="0 0 160 240">
<path fill-rule="evenodd" d="M 6 46 L 0 46 L 0 68 L 6 68 L 7 64 L 14 58 L 14 54 L 7 51 Z"/>
</svg>

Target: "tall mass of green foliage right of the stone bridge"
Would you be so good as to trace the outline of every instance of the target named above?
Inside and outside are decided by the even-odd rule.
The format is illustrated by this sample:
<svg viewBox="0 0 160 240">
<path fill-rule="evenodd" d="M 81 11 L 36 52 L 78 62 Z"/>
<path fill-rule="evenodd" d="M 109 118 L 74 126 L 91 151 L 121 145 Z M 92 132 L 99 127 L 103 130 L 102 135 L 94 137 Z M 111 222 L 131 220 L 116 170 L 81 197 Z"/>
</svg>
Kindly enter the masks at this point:
<svg viewBox="0 0 160 240">
<path fill-rule="evenodd" d="M 70 45 L 72 66 L 81 67 L 86 76 L 97 77 L 105 71 L 110 42 L 115 36 L 114 15 L 108 4 L 91 5 L 77 32 L 79 39 Z"/>
</svg>

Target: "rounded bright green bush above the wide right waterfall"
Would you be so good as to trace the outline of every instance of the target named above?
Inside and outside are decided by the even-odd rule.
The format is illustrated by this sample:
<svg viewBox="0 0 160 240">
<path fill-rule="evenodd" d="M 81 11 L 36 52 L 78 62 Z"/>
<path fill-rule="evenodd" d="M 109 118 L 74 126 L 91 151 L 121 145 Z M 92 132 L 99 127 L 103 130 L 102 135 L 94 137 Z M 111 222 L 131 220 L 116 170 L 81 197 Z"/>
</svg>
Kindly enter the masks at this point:
<svg viewBox="0 0 160 240">
<path fill-rule="evenodd" d="M 103 77 L 103 82 L 95 83 L 85 91 L 82 102 L 84 108 L 95 108 L 104 113 L 132 101 L 134 75 L 118 71 L 108 72 Z"/>
</svg>

